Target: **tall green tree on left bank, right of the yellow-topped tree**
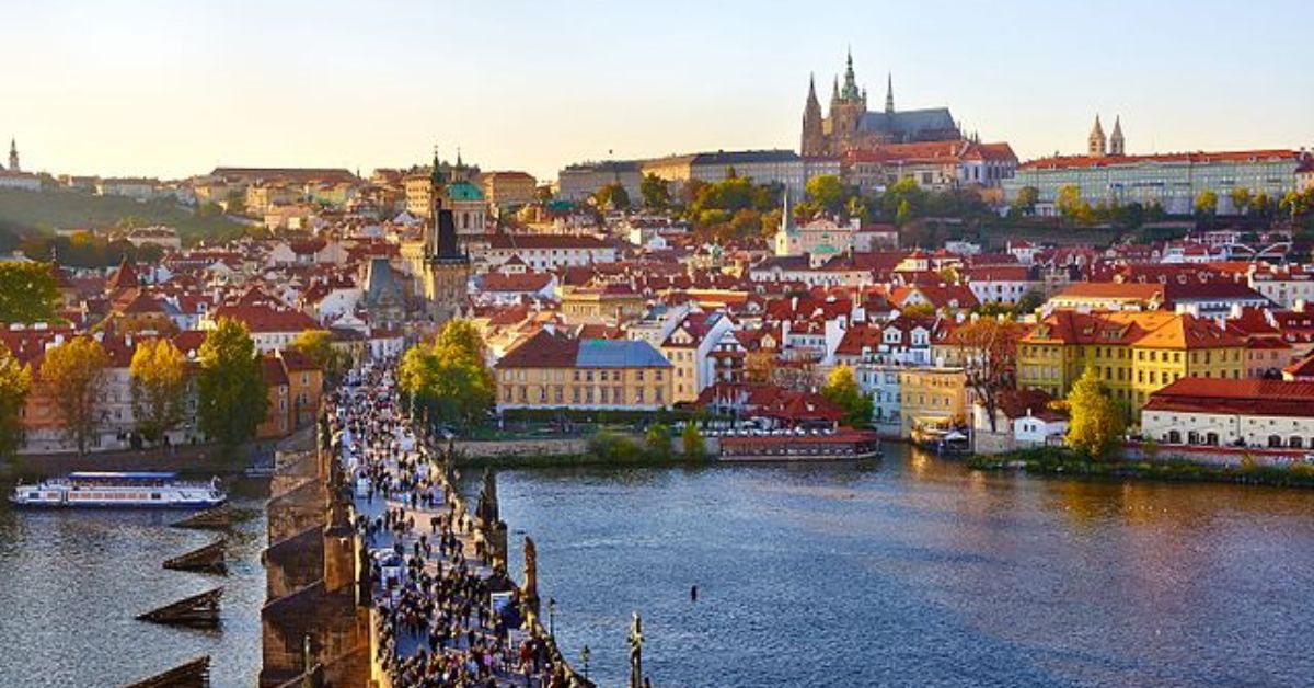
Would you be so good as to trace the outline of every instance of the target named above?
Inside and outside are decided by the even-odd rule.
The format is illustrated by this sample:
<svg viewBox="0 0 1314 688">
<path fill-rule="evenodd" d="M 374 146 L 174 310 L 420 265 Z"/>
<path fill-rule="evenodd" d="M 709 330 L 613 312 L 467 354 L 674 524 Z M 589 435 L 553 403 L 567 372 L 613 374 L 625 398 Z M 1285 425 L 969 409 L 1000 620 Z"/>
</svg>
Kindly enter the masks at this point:
<svg viewBox="0 0 1314 688">
<path fill-rule="evenodd" d="M 201 431 L 233 451 L 255 437 L 269 410 L 260 354 L 244 324 L 219 318 L 197 351 L 197 420 Z"/>
</svg>

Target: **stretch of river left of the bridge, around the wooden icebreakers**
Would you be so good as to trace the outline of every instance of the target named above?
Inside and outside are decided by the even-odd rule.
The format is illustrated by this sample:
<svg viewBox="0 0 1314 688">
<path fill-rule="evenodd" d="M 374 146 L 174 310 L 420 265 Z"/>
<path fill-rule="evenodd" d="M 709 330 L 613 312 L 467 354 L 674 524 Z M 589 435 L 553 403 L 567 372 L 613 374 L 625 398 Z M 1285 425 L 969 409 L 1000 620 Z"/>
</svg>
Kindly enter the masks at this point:
<svg viewBox="0 0 1314 688">
<path fill-rule="evenodd" d="M 12 484 L 0 485 L 8 496 Z M 170 571 L 164 559 L 219 531 L 168 525 L 173 510 L 14 510 L 0 505 L 0 685 L 117 687 L 212 655 L 217 687 L 255 685 L 264 604 L 268 487 L 239 480 L 227 533 L 227 576 Z M 221 627 L 196 630 L 134 617 L 223 585 Z"/>
</svg>

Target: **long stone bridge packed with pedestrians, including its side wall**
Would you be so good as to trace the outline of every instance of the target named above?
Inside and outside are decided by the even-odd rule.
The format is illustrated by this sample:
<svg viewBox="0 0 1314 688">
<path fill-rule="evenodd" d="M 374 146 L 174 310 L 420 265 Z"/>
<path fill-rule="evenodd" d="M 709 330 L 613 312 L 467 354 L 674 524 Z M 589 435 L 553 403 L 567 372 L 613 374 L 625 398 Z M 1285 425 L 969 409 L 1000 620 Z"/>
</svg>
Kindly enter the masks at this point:
<svg viewBox="0 0 1314 688">
<path fill-rule="evenodd" d="M 315 449 L 280 455 L 269 500 L 261 685 L 590 688 L 539 618 L 533 542 L 507 571 L 485 474 L 418 431 L 388 367 L 326 400 Z"/>
</svg>

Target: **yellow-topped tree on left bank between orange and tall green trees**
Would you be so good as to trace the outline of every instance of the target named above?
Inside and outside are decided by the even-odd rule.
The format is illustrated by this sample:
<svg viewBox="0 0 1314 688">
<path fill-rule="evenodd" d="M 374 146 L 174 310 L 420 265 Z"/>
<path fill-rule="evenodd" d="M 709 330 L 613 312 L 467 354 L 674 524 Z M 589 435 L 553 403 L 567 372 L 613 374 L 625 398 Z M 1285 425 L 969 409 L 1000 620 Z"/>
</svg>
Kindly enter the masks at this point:
<svg viewBox="0 0 1314 688">
<path fill-rule="evenodd" d="M 183 422 L 187 359 L 168 339 L 146 339 L 137 345 L 129 374 L 137 430 L 147 442 L 159 442 Z"/>
</svg>

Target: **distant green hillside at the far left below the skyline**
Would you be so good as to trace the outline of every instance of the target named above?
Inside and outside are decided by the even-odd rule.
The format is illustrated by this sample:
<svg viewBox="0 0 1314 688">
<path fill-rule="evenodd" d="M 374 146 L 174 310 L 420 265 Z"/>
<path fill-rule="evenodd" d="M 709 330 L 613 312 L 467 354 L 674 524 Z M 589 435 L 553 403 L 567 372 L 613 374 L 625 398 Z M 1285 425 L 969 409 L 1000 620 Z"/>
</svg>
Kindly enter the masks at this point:
<svg viewBox="0 0 1314 688">
<path fill-rule="evenodd" d="M 138 203 L 122 196 L 92 196 L 80 191 L 22 191 L 0 188 L 0 247 L 7 237 L 49 234 L 55 229 L 106 229 L 122 225 L 166 225 L 184 245 L 202 238 L 237 237 L 246 229 L 218 210 L 192 212 L 173 201 Z"/>
</svg>

